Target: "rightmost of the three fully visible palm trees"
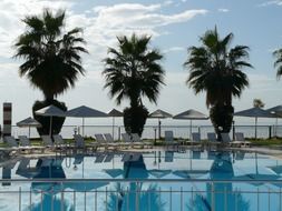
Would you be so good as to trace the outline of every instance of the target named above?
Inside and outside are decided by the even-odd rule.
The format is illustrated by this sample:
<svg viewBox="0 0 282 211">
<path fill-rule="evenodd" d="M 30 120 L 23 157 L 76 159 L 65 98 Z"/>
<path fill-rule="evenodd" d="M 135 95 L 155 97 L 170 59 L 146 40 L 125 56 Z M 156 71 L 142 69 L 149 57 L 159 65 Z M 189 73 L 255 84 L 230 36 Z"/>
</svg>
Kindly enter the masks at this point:
<svg viewBox="0 0 282 211">
<path fill-rule="evenodd" d="M 246 62 L 249 47 L 230 48 L 233 33 L 220 39 L 216 28 L 207 30 L 200 38 L 201 47 L 189 47 L 184 63 L 189 70 L 186 83 L 195 93 L 206 92 L 206 105 L 216 133 L 230 132 L 234 109 L 232 97 L 241 97 L 249 86 L 243 68 L 252 68 Z"/>
</svg>

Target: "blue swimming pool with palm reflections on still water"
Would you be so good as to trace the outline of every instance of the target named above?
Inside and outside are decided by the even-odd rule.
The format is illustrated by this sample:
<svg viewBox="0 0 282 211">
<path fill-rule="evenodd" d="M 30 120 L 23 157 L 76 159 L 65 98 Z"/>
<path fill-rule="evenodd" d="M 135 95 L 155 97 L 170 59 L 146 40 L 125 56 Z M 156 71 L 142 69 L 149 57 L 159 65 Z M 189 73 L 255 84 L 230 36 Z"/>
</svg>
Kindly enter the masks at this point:
<svg viewBox="0 0 282 211">
<path fill-rule="evenodd" d="M 282 210 L 282 161 L 242 151 L 22 158 L 0 172 L 19 180 L 2 181 L 1 211 Z"/>
</svg>

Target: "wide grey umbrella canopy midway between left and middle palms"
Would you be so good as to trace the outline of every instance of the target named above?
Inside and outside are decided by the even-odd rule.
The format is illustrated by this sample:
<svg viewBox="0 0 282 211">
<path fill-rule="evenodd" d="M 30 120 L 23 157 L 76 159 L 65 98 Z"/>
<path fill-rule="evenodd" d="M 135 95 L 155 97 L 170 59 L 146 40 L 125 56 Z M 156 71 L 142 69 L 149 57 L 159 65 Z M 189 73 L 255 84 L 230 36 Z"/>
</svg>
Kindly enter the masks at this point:
<svg viewBox="0 0 282 211">
<path fill-rule="evenodd" d="M 65 113 L 66 117 L 72 118 L 106 118 L 107 113 L 98 111 L 96 109 L 91 109 L 86 105 L 81 105 L 75 109 L 71 109 Z"/>
</svg>

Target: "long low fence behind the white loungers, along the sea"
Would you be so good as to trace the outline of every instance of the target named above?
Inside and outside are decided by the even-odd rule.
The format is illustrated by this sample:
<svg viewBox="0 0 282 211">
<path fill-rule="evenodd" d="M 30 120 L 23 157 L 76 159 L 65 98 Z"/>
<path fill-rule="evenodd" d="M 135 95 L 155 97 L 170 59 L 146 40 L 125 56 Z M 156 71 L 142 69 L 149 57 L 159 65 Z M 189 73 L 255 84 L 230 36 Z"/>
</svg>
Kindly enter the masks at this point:
<svg viewBox="0 0 282 211">
<path fill-rule="evenodd" d="M 29 129 L 12 127 L 12 134 L 18 137 L 21 134 L 28 134 Z M 162 125 L 161 137 L 164 137 L 164 131 L 174 131 L 174 137 L 176 138 L 189 138 L 192 132 L 201 132 L 202 139 L 206 139 L 207 132 L 214 132 L 212 125 L 193 125 L 192 130 L 188 125 Z M 80 125 L 64 125 L 61 129 L 61 134 L 64 138 L 72 138 L 74 133 L 81 133 L 82 129 Z M 246 138 L 254 138 L 255 127 L 254 125 L 234 125 L 231 131 L 231 137 L 235 132 L 243 132 Z M 125 128 L 121 125 L 85 125 L 84 134 L 88 137 L 94 137 L 95 133 L 113 133 L 115 139 L 120 139 L 120 133 L 125 132 Z M 37 130 L 31 128 L 31 138 L 38 138 Z M 282 137 L 282 125 L 257 125 L 257 138 L 270 138 L 270 137 Z M 155 139 L 158 138 L 158 127 L 157 125 L 145 125 L 143 138 Z"/>
</svg>

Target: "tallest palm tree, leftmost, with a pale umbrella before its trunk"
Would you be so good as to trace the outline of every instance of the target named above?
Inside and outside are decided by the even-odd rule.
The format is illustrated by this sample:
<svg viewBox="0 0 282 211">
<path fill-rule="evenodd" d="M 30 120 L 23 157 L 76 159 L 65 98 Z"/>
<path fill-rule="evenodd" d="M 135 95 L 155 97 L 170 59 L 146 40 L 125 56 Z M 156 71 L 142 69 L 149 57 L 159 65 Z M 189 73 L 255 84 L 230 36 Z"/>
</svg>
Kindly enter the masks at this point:
<svg viewBox="0 0 282 211">
<path fill-rule="evenodd" d="M 14 58 L 23 59 L 19 67 L 20 77 L 27 77 L 31 86 L 42 91 L 45 101 L 37 101 L 33 111 L 49 104 L 67 110 L 65 103 L 55 100 L 58 94 L 75 87 L 78 74 L 84 74 L 81 57 L 87 52 L 81 47 L 85 40 L 81 29 L 75 28 L 65 32 L 65 11 L 54 14 L 46 9 L 42 16 L 28 16 L 23 19 L 27 30 L 19 36 L 14 47 Z M 35 115 L 35 113 L 33 113 Z M 36 117 L 41 123 L 40 133 L 47 132 L 49 118 Z M 58 128 L 55 119 L 55 128 Z M 60 118 L 61 125 L 64 119 Z M 59 123 L 60 124 L 60 123 Z"/>
</svg>

